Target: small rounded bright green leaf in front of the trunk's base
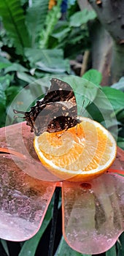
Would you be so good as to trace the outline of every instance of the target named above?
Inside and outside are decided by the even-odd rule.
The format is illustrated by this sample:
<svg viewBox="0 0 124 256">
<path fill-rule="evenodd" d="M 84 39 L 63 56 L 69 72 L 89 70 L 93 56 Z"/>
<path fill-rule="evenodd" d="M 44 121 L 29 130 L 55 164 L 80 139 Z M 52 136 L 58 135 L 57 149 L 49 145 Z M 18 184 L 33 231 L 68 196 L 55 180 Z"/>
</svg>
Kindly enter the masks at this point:
<svg viewBox="0 0 124 256">
<path fill-rule="evenodd" d="M 98 70 L 90 69 L 88 72 L 85 72 L 85 74 L 82 75 L 82 78 L 85 78 L 98 86 L 101 83 L 102 75 L 100 72 L 98 72 Z"/>
</svg>

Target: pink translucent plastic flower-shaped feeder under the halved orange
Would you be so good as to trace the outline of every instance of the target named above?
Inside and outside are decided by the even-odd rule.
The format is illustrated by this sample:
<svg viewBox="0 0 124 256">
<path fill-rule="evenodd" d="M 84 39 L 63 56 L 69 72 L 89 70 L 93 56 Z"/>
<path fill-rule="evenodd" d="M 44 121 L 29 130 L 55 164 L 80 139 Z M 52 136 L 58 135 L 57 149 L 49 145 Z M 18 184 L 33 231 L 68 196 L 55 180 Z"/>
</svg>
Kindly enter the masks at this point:
<svg viewBox="0 0 124 256">
<path fill-rule="evenodd" d="M 42 225 L 55 187 L 62 189 L 63 236 L 74 250 L 105 252 L 124 230 L 124 151 L 107 172 L 88 183 L 61 181 L 34 151 L 26 124 L 0 129 L 0 237 L 24 241 Z"/>
</svg>

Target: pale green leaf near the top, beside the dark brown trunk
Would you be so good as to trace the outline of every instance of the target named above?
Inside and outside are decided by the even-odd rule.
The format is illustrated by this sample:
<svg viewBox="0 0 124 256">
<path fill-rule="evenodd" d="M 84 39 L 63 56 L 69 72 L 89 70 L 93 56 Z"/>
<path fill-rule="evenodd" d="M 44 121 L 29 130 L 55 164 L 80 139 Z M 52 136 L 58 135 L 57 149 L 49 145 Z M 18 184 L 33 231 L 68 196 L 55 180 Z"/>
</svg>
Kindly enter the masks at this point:
<svg viewBox="0 0 124 256">
<path fill-rule="evenodd" d="M 76 12 L 74 15 L 71 15 L 70 26 L 78 27 L 82 24 L 88 23 L 89 20 L 93 20 L 95 18 L 95 11 L 88 11 L 87 9 L 84 9 L 83 11 Z"/>
</svg>

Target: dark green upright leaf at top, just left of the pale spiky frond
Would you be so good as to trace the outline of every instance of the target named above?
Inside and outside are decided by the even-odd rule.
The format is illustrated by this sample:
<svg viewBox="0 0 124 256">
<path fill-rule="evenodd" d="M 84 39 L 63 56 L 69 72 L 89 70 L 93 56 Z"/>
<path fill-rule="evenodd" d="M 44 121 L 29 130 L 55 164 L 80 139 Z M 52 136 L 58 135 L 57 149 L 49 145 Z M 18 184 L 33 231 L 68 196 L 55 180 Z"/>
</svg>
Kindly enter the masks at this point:
<svg viewBox="0 0 124 256">
<path fill-rule="evenodd" d="M 31 46 L 38 42 L 39 34 L 44 29 L 44 22 L 48 12 L 49 0 L 34 0 L 32 6 L 28 7 L 26 23 L 31 36 Z"/>
</svg>

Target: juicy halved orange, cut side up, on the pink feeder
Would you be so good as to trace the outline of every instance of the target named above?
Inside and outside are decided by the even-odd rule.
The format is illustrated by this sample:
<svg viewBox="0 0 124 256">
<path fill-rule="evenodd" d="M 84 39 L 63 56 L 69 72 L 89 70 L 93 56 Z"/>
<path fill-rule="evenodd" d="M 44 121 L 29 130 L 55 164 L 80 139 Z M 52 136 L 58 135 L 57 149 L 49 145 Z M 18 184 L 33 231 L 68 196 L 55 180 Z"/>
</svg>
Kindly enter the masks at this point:
<svg viewBox="0 0 124 256">
<path fill-rule="evenodd" d="M 66 131 L 44 132 L 34 138 L 42 164 L 55 176 L 69 181 L 89 181 L 114 162 L 117 146 L 112 135 L 96 121 L 81 118 Z"/>
</svg>

